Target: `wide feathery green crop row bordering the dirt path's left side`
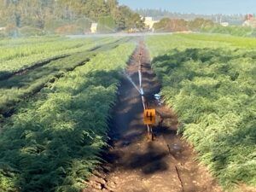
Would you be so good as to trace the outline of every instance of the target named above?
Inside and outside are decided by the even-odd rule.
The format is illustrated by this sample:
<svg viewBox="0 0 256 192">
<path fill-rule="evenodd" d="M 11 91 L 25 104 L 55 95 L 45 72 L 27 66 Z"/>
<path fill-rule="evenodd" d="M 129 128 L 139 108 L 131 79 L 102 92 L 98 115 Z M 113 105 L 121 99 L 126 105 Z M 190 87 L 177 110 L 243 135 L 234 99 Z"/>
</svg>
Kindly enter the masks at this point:
<svg viewBox="0 0 256 192">
<path fill-rule="evenodd" d="M 106 145 L 119 72 L 133 49 L 99 53 L 20 104 L 0 137 L 0 191 L 84 188 Z"/>
</svg>

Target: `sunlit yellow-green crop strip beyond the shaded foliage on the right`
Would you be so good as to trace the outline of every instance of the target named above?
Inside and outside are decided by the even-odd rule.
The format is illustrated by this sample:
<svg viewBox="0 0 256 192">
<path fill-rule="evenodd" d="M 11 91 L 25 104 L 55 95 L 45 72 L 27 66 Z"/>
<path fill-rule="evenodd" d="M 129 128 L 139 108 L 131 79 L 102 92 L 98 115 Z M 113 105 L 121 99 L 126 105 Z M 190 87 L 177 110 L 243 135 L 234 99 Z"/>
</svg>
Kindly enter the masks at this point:
<svg viewBox="0 0 256 192">
<path fill-rule="evenodd" d="M 240 38 L 219 34 L 172 34 L 147 38 L 151 57 L 162 55 L 169 49 L 224 48 L 256 49 L 255 38 Z"/>
</svg>

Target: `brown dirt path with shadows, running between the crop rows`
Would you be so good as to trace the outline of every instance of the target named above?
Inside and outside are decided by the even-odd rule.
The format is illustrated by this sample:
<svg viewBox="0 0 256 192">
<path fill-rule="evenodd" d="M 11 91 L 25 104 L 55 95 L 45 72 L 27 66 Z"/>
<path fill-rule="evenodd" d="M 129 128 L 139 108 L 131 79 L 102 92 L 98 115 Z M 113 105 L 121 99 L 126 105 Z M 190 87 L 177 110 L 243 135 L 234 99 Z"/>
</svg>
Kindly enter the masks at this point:
<svg viewBox="0 0 256 192">
<path fill-rule="evenodd" d="M 151 70 L 143 42 L 138 45 L 126 73 L 138 85 L 140 53 L 143 89 L 146 95 L 152 96 L 160 91 L 160 84 Z M 168 108 L 156 107 L 152 99 L 148 97 L 149 105 L 160 113 L 168 113 L 171 119 L 167 122 L 168 127 L 165 123 L 154 127 L 155 140 L 148 142 L 139 93 L 127 79 L 122 80 L 110 134 L 113 148 L 105 155 L 108 163 L 90 178 L 84 192 L 221 191 L 207 169 L 195 162 L 193 148 L 177 136 L 176 116 Z"/>
</svg>

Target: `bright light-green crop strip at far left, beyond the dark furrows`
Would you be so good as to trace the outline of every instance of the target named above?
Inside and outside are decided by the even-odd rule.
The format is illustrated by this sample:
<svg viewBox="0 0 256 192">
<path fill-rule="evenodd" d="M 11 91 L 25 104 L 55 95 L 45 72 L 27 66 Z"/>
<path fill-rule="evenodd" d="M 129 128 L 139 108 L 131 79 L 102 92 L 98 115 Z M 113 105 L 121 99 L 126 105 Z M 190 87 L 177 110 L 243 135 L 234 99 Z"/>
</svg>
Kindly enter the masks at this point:
<svg viewBox="0 0 256 192">
<path fill-rule="evenodd" d="M 28 40 L 31 44 L 19 44 L 20 40 L 6 42 L 5 46 L 0 47 L 0 77 L 5 73 L 15 73 L 26 67 L 31 67 L 38 61 L 50 60 L 61 55 L 71 55 L 79 51 L 88 50 L 99 44 L 107 44 L 113 41 L 110 38 L 46 38 L 42 41 L 38 38 L 38 44 L 35 39 Z"/>
</svg>

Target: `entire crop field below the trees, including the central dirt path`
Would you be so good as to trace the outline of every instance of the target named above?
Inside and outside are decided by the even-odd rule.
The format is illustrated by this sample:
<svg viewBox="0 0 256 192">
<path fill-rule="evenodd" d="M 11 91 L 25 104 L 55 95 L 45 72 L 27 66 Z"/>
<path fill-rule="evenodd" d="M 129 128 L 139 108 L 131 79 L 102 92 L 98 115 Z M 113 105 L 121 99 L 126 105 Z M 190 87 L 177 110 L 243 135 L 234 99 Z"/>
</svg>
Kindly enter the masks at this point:
<svg viewBox="0 0 256 192">
<path fill-rule="evenodd" d="M 255 55 L 255 38 L 218 34 L 0 40 L 0 191 L 87 192 L 109 159 L 94 184 L 109 191 L 255 189 Z M 139 84 L 173 109 L 155 141 Z"/>
</svg>

